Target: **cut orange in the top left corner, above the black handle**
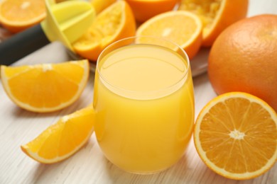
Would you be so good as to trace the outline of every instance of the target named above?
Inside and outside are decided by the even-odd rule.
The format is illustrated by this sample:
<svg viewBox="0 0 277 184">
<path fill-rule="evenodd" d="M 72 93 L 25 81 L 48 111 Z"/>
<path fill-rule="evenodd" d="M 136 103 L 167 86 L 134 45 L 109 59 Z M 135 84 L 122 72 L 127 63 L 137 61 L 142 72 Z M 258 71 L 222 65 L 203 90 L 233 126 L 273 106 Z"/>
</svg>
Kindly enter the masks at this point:
<svg viewBox="0 0 277 184">
<path fill-rule="evenodd" d="M 44 0 L 1 0 L 0 23 L 13 33 L 43 21 L 46 16 Z"/>
</svg>

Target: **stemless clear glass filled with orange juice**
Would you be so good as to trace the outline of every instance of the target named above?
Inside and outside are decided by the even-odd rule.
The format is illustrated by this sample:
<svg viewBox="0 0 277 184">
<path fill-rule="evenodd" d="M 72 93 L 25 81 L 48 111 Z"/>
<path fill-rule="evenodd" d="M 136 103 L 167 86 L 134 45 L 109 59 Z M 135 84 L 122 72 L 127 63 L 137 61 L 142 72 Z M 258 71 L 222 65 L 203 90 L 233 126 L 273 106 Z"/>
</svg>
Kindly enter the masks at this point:
<svg viewBox="0 0 277 184">
<path fill-rule="evenodd" d="M 124 171 L 156 173 L 185 151 L 194 122 L 190 62 L 162 38 L 126 38 L 100 55 L 94 81 L 95 134 Z"/>
</svg>

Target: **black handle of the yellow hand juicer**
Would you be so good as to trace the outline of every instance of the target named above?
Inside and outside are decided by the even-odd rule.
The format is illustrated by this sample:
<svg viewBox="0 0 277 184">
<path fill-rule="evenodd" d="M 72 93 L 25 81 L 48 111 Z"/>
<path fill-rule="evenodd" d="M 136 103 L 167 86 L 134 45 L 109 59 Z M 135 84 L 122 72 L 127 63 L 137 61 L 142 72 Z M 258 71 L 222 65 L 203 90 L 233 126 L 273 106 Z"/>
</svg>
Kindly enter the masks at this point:
<svg viewBox="0 0 277 184">
<path fill-rule="evenodd" d="M 0 43 L 0 64 L 12 64 L 48 43 L 41 25 L 34 25 Z"/>
</svg>

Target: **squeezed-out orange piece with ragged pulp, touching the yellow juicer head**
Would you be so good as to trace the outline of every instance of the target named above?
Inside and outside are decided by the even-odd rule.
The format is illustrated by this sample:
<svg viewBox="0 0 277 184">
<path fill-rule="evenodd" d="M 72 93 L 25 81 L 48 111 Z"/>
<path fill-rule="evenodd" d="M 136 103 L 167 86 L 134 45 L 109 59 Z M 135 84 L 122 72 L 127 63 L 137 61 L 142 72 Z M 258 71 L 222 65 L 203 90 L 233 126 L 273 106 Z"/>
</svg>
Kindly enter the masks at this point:
<svg viewBox="0 0 277 184">
<path fill-rule="evenodd" d="M 116 1 L 99 13 L 88 32 L 73 43 L 73 48 L 80 56 L 96 62 L 105 47 L 135 33 L 136 21 L 131 8 L 125 1 Z"/>
</svg>

